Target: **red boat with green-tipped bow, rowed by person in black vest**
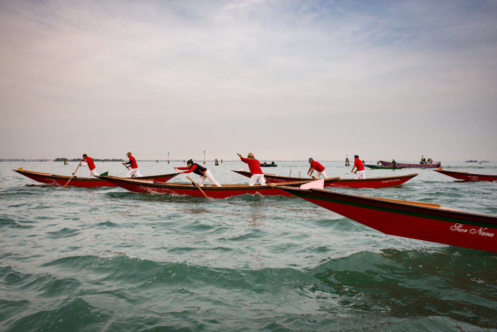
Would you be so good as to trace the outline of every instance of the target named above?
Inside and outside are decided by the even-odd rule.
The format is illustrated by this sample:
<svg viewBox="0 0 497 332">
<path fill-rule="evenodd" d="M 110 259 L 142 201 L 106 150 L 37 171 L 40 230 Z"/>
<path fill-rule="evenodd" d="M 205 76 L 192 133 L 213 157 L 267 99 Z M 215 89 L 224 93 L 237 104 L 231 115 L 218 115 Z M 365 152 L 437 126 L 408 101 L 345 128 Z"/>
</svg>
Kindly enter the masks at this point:
<svg viewBox="0 0 497 332">
<path fill-rule="evenodd" d="M 143 181 L 114 176 L 97 177 L 129 191 L 139 193 L 176 194 L 205 197 L 202 193 L 203 191 L 209 198 L 227 198 L 243 194 L 291 196 L 290 193 L 280 190 L 279 187 L 276 186 L 274 183 L 271 185 L 261 185 L 260 183 L 256 183 L 253 186 L 249 186 L 248 184 L 222 184 L 221 187 L 218 187 L 214 184 L 209 184 L 200 187 L 202 188 L 202 191 L 200 191 L 197 186 L 191 183 Z M 338 177 L 333 177 L 328 180 L 336 181 L 337 179 Z M 304 182 L 284 182 L 284 184 L 288 186 L 299 186 L 302 183 L 308 183 L 310 181 L 311 180 L 307 180 Z"/>
</svg>

